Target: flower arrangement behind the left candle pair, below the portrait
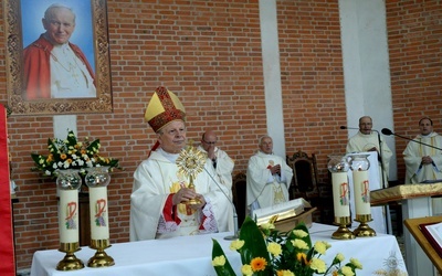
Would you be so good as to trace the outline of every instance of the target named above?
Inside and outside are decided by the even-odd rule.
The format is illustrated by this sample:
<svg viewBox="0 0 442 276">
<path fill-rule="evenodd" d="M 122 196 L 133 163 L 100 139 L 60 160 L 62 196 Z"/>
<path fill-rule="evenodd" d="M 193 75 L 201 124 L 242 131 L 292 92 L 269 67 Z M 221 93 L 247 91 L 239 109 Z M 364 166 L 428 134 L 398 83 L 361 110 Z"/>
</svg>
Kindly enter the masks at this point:
<svg viewBox="0 0 442 276">
<path fill-rule="evenodd" d="M 108 167 L 109 171 L 114 168 L 123 169 L 118 164 L 118 159 L 99 156 L 99 139 L 91 142 L 86 137 L 84 141 L 78 141 L 74 131 L 70 130 L 65 140 L 48 139 L 48 156 L 31 153 L 36 166 L 32 170 L 55 178 L 57 170 L 76 169 L 80 174 L 85 176 L 86 169 L 92 167 Z"/>
</svg>

